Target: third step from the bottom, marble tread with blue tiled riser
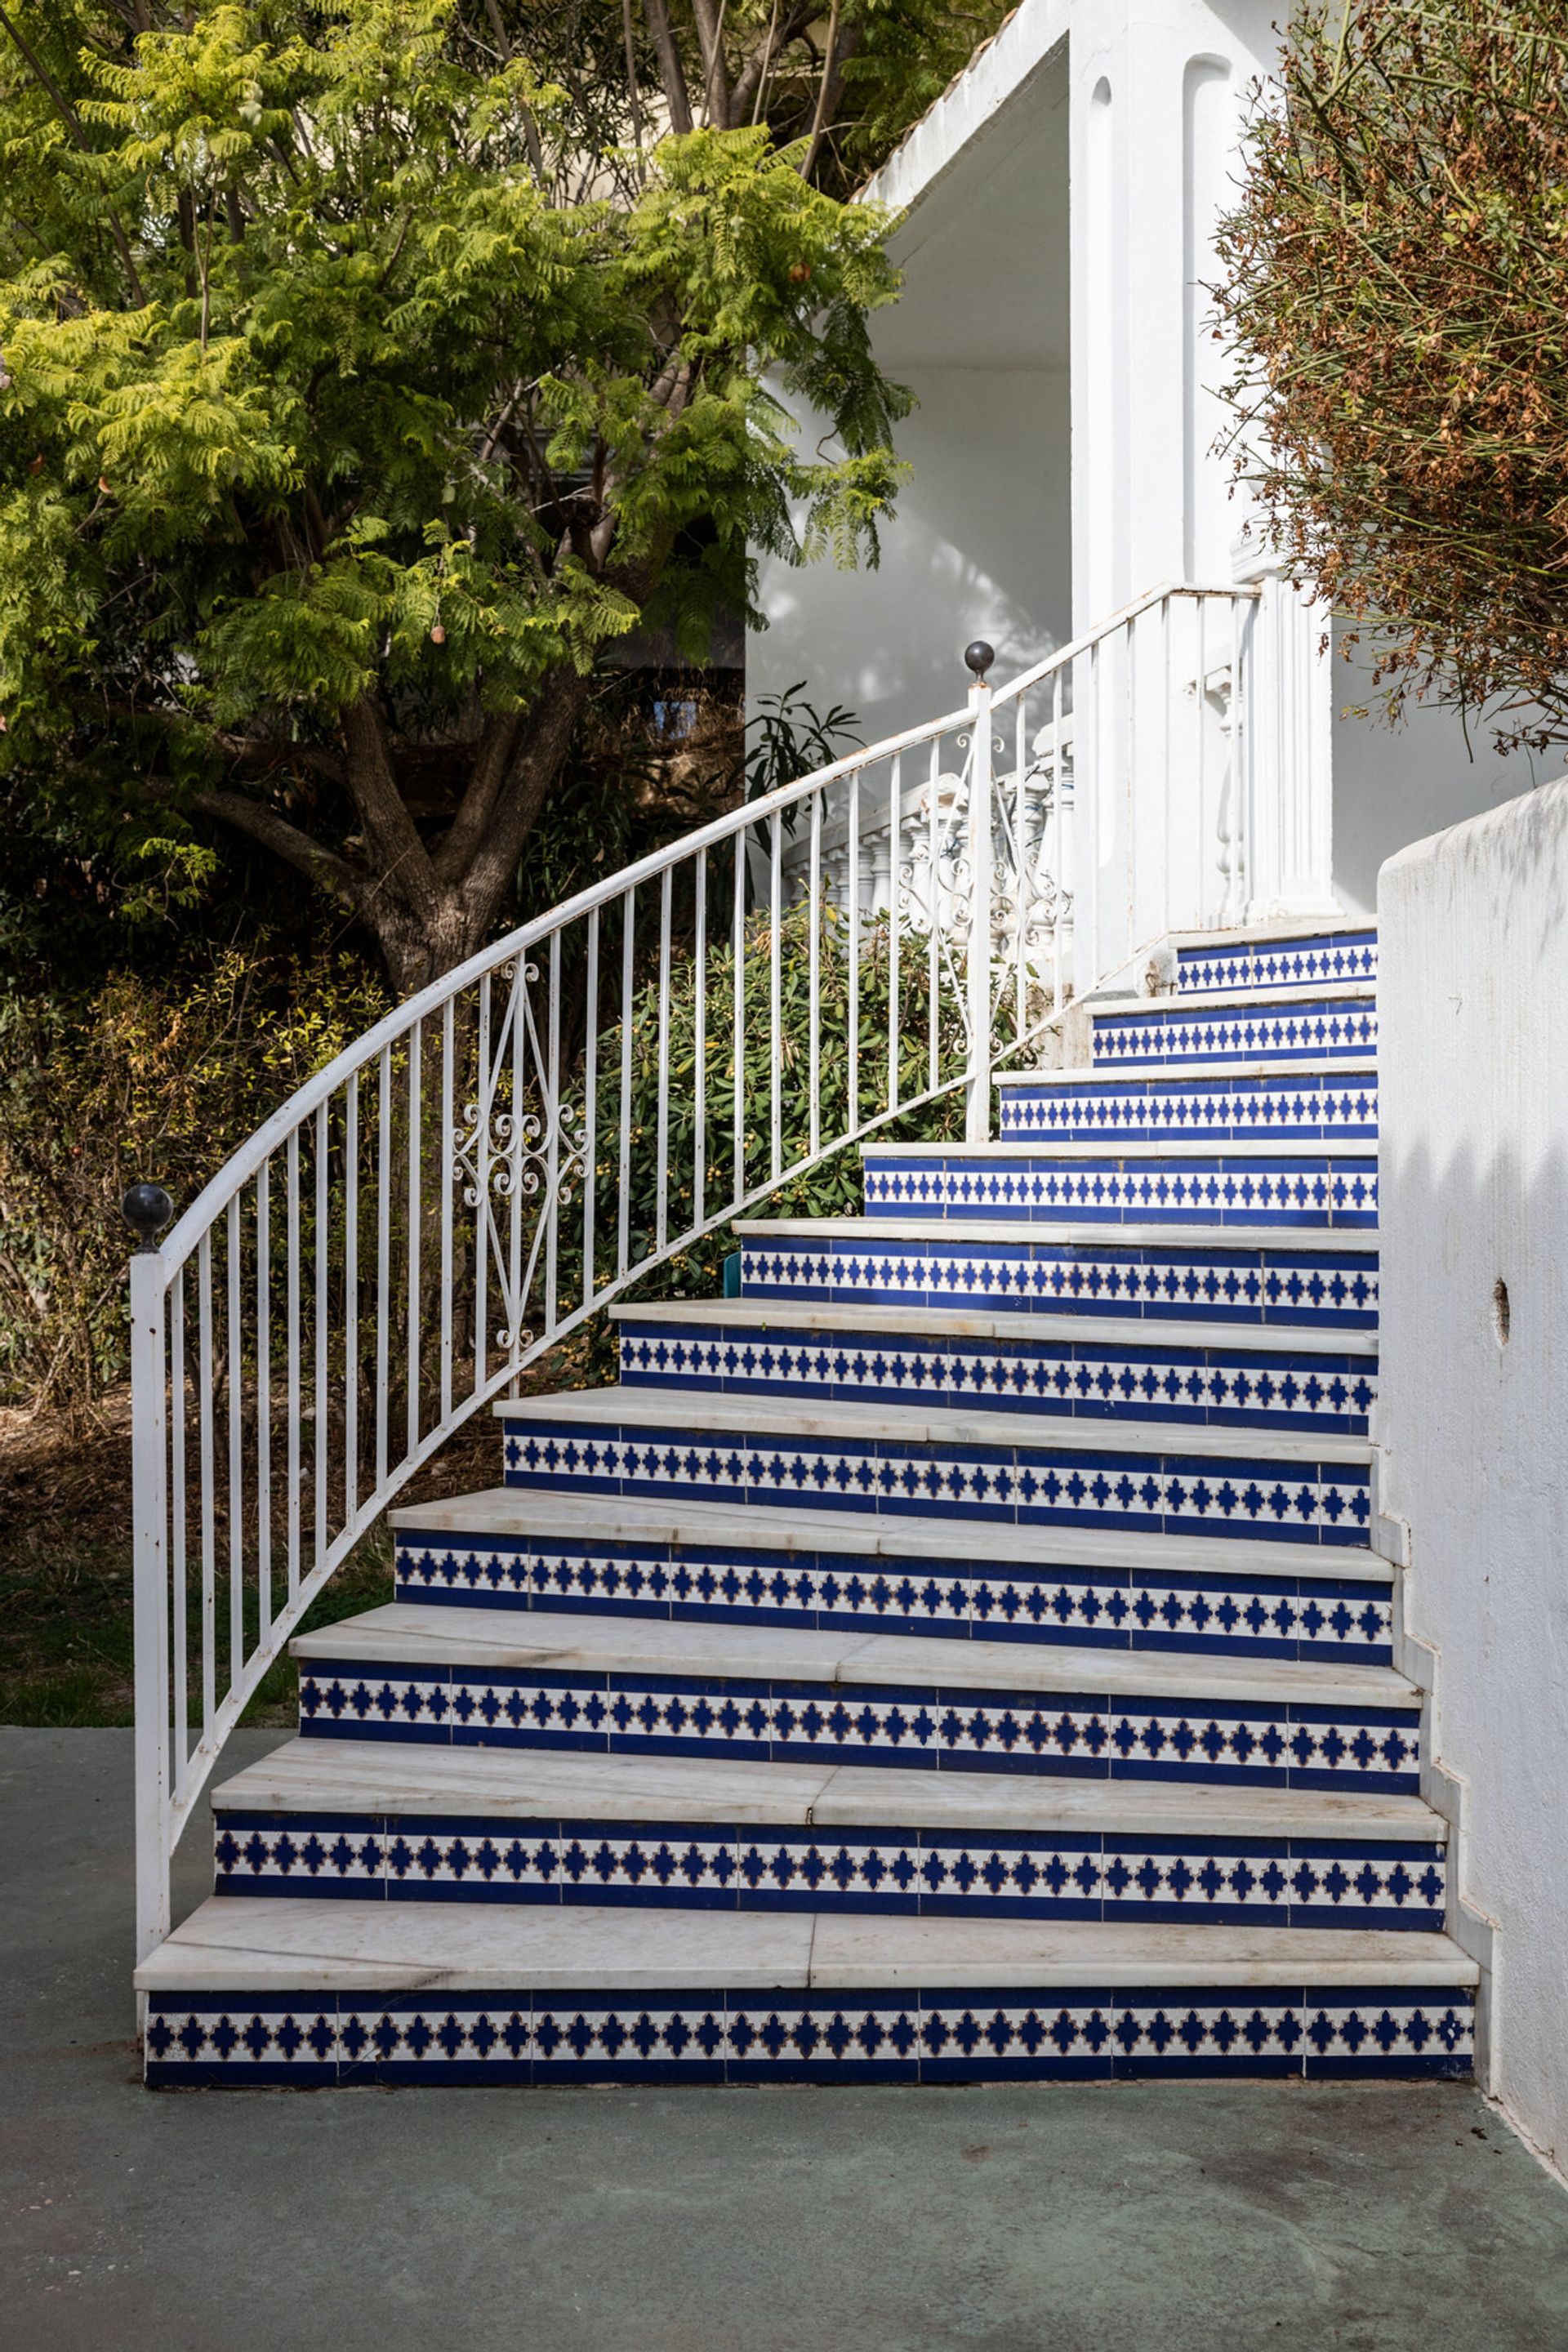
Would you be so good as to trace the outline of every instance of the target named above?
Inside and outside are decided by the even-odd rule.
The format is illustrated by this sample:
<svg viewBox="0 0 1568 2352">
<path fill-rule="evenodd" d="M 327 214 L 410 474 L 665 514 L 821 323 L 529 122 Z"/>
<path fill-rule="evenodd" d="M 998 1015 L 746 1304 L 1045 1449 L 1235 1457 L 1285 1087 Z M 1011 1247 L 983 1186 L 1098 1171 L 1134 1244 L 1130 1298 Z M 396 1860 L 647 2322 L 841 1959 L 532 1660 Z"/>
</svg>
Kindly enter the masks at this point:
<svg viewBox="0 0 1568 2352">
<path fill-rule="evenodd" d="M 292 1649 L 315 1738 L 1415 1790 L 1420 1691 L 1378 1665 L 400 1602 Z"/>
</svg>

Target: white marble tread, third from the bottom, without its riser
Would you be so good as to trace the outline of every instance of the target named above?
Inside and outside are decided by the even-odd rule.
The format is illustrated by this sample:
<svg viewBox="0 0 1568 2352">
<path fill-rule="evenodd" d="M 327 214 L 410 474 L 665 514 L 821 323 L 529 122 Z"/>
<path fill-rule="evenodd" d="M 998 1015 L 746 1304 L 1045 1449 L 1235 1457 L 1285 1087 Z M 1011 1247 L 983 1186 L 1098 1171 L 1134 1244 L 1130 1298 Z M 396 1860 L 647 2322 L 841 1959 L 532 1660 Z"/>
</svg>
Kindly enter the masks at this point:
<svg viewBox="0 0 1568 2352">
<path fill-rule="evenodd" d="M 548 1670 L 938 1691 L 1070 1691 L 1194 1708 L 1218 1700 L 1420 1708 L 1420 1691 L 1392 1665 L 1347 1665 L 1338 1658 L 1206 1658 L 1192 1651 L 1077 1644 L 1053 1649 L 1027 1642 L 952 1642 L 943 1635 L 842 1635 L 802 1625 L 444 1609 L 440 1602 L 383 1602 L 381 1609 L 294 1635 L 289 1651 L 301 1661 L 329 1658 L 362 1670 L 435 1665 L 454 1672 Z"/>
</svg>

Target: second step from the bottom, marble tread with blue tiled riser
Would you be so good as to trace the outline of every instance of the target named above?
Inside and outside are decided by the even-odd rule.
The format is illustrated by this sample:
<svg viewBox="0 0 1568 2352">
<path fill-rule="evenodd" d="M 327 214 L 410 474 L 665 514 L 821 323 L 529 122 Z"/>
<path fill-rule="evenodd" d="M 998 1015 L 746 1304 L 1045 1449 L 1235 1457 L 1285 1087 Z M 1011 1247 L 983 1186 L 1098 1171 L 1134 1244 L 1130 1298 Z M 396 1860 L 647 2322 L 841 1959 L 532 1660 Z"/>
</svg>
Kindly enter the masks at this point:
<svg viewBox="0 0 1568 2352">
<path fill-rule="evenodd" d="M 1443 1924 L 1418 1797 L 294 1740 L 212 1806 L 226 1896 Z"/>
</svg>

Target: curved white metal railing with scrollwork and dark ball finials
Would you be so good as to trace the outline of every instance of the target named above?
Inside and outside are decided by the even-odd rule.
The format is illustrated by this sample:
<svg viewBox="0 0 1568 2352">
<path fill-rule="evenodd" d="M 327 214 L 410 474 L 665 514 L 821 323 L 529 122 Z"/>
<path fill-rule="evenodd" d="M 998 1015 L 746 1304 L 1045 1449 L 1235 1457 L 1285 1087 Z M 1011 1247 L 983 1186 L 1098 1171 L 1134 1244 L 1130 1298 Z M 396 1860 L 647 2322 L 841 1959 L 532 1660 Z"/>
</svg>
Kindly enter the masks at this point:
<svg viewBox="0 0 1568 2352">
<path fill-rule="evenodd" d="M 463 1421 L 889 1120 L 966 1089 L 987 1134 L 994 1061 L 1060 1018 L 1074 962 L 1079 985 L 1103 969 L 1074 946 L 1074 800 L 1147 760 L 1150 713 L 1168 727 L 1208 673 L 1166 663 L 1114 762 L 1105 677 L 1150 612 L 1171 649 L 1171 607 L 1220 600 L 1239 717 L 1255 595 L 1154 590 L 1001 689 L 971 647 L 966 708 L 719 816 L 397 1007 L 162 1244 L 167 1197 L 127 1195 L 139 1957 L 228 1733 Z"/>
</svg>

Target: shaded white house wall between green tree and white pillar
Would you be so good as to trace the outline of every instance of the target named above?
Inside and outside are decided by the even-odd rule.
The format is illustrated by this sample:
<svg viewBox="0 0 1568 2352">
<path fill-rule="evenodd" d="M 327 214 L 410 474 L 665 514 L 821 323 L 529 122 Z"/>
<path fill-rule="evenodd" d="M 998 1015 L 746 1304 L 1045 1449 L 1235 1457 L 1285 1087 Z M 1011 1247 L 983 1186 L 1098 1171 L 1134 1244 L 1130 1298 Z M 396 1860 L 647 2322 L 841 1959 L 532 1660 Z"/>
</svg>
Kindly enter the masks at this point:
<svg viewBox="0 0 1568 2352">
<path fill-rule="evenodd" d="M 870 743 L 961 708 L 971 637 L 997 647 L 1006 677 L 1072 633 L 1058 16 L 1046 0 L 1020 12 L 994 45 L 1001 61 L 987 52 L 976 87 L 966 78 L 872 188 L 910 207 L 893 240 L 905 292 L 872 320 L 872 348 L 919 402 L 898 430 L 912 477 L 877 572 L 762 564 L 769 628 L 748 644 L 752 710 L 806 680 L 818 708 L 849 703 Z M 1006 87 L 1001 66 L 1020 80 Z M 804 421 L 802 442 L 818 435 L 820 421 Z"/>
</svg>

